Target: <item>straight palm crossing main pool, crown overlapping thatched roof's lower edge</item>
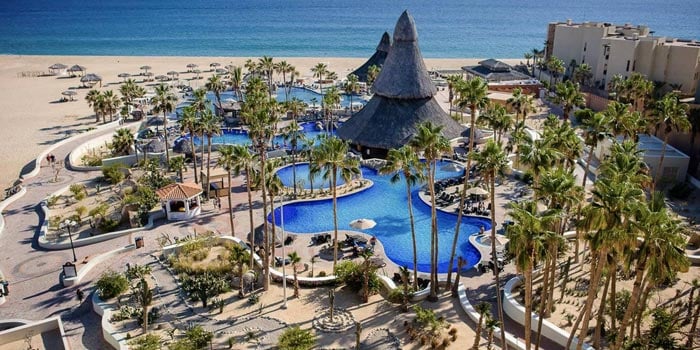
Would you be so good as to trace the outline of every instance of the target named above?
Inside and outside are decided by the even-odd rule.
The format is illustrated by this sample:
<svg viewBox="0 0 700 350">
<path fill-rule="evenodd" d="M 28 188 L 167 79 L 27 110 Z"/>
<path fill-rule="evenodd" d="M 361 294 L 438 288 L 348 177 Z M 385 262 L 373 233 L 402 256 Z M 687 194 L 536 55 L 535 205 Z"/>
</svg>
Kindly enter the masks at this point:
<svg viewBox="0 0 700 350">
<path fill-rule="evenodd" d="M 437 161 L 443 154 L 452 151 L 450 142 L 442 135 L 442 126 L 433 125 L 426 121 L 418 125 L 418 133 L 411 139 L 409 146 L 416 152 L 421 152 L 428 172 L 428 191 L 430 192 L 430 295 L 428 300 L 437 301 L 438 293 L 438 226 L 437 205 L 435 204 L 435 173 Z M 452 264 L 448 268 L 452 270 Z"/>
</svg>

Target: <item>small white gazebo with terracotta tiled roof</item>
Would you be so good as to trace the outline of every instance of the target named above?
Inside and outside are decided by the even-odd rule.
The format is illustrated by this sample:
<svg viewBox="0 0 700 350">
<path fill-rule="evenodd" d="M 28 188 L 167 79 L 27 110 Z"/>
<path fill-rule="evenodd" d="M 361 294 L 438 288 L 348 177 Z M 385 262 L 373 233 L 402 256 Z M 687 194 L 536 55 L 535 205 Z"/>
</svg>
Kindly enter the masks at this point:
<svg viewBox="0 0 700 350">
<path fill-rule="evenodd" d="M 167 185 L 156 194 L 170 221 L 189 220 L 202 211 L 199 195 L 202 187 L 195 183 L 174 183 Z"/>
</svg>

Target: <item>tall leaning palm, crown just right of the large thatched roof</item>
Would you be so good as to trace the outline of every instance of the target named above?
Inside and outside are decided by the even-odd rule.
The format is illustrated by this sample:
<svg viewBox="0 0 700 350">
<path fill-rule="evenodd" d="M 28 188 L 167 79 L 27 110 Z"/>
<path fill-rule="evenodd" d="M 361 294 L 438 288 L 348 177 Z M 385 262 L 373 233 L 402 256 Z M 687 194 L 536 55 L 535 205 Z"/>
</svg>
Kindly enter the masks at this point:
<svg viewBox="0 0 700 350">
<path fill-rule="evenodd" d="M 460 109 L 469 107 L 470 124 L 469 124 L 469 154 L 474 153 L 474 135 L 476 128 L 476 111 L 488 106 L 488 84 L 481 78 L 473 78 L 459 85 L 459 101 L 457 106 Z M 462 226 L 462 216 L 464 211 L 464 202 L 467 196 L 467 187 L 469 187 L 469 174 L 471 173 L 472 161 L 471 157 L 467 159 L 467 168 L 464 172 L 464 186 L 459 198 L 459 212 L 457 213 L 457 224 L 455 225 L 455 234 L 452 239 L 452 249 L 450 252 L 450 262 L 447 265 L 447 286 L 452 284 L 452 270 L 454 269 L 455 253 L 457 251 L 457 241 L 459 240 L 459 230 Z M 437 257 L 436 257 L 437 259 Z M 437 279 L 437 276 L 436 276 Z"/>
</svg>

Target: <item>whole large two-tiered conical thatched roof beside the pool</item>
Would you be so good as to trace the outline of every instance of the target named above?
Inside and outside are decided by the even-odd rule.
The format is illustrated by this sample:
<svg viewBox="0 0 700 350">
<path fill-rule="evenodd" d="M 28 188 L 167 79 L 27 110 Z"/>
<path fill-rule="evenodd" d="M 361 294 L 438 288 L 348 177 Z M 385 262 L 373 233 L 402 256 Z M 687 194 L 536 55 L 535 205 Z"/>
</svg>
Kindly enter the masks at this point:
<svg viewBox="0 0 700 350">
<path fill-rule="evenodd" d="M 423 63 L 415 22 L 408 12 L 396 23 L 394 42 L 373 88 L 372 99 L 337 133 L 366 158 L 386 157 L 389 149 L 408 143 L 425 121 L 442 126 L 448 139 L 459 137 L 464 130 L 434 98 L 437 90 Z"/>
</svg>

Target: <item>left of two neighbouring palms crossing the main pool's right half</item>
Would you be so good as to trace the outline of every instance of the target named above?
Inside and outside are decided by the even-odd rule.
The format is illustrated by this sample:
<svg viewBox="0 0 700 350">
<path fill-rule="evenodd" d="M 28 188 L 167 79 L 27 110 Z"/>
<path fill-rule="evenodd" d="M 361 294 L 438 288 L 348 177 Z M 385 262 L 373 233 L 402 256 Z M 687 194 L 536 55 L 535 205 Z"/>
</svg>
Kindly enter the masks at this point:
<svg viewBox="0 0 700 350">
<path fill-rule="evenodd" d="M 385 165 L 379 169 L 380 174 L 393 174 L 391 183 L 401 181 L 401 176 L 406 182 L 406 205 L 408 207 L 408 219 L 411 223 L 411 240 L 413 242 L 413 289 L 418 290 L 418 248 L 416 247 L 416 228 L 413 218 L 413 202 L 411 200 L 411 188 L 418 182 L 424 181 L 424 166 L 418 159 L 416 152 L 409 146 L 399 149 L 390 149 L 386 157 Z"/>
</svg>

